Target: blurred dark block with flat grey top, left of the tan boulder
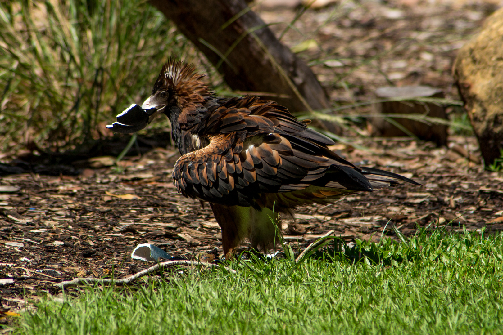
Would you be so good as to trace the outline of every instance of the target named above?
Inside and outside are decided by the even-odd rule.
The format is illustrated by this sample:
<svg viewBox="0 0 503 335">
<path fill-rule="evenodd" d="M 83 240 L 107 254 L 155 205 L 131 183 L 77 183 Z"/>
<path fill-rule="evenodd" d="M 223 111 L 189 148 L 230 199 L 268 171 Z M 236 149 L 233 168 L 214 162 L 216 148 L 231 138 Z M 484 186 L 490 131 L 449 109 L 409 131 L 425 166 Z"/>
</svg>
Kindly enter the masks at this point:
<svg viewBox="0 0 503 335">
<path fill-rule="evenodd" d="M 428 86 L 381 87 L 376 89 L 378 98 L 410 98 L 402 101 L 384 101 L 373 105 L 374 114 L 427 114 L 429 117 L 447 119 L 444 107 L 433 103 L 418 103 L 413 97 L 443 98 L 441 90 Z M 428 110 L 427 110 L 428 108 Z M 403 118 L 390 118 L 397 126 L 384 118 L 372 118 L 372 135 L 383 137 L 417 136 L 422 140 L 434 141 L 438 146 L 447 144 L 447 126 L 429 125 L 421 121 Z M 400 129 L 401 128 L 401 129 Z"/>
</svg>

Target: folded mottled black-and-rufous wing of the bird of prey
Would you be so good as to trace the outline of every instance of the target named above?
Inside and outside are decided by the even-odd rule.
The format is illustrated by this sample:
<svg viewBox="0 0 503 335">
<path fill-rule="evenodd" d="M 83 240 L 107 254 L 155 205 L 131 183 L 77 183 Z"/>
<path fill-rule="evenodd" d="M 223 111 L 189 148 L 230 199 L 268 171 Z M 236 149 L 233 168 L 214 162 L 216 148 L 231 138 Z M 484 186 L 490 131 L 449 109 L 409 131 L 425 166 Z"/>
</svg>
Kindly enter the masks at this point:
<svg viewBox="0 0 503 335">
<path fill-rule="evenodd" d="M 330 139 L 307 129 L 273 101 L 230 99 L 198 125 L 197 134 L 209 145 L 182 156 L 173 174 L 177 189 L 192 198 L 253 206 L 265 193 L 316 185 L 322 189 L 315 194 L 294 193 L 305 201 L 309 192 L 325 199 L 341 194 L 326 186 L 333 179 L 345 192 L 372 189 L 359 168 L 326 148 L 333 144 Z"/>
</svg>

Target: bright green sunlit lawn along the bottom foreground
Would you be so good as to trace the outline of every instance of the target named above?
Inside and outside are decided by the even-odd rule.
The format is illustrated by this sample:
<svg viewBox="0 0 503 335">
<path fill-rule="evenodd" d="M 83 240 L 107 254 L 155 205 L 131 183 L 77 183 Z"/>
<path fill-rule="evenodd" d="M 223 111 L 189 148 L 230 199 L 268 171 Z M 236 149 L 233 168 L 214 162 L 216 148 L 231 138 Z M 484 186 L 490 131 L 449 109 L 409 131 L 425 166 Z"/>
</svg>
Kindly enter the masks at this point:
<svg viewBox="0 0 503 335">
<path fill-rule="evenodd" d="M 130 288 L 82 288 L 64 303 L 47 298 L 15 333 L 501 333 L 502 254 L 501 235 L 436 231 L 318 253 L 284 281 L 287 259 L 230 262 L 235 274 L 184 268 Z"/>
</svg>

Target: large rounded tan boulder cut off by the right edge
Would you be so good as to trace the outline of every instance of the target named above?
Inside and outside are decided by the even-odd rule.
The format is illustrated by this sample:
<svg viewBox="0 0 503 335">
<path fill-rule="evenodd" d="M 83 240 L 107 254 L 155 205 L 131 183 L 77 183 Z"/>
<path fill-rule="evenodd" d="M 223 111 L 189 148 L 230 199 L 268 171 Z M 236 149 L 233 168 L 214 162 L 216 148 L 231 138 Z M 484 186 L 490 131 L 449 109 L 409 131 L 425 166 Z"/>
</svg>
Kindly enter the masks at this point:
<svg viewBox="0 0 503 335">
<path fill-rule="evenodd" d="M 486 165 L 503 149 L 503 9 L 458 52 L 454 78 Z"/>
</svg>

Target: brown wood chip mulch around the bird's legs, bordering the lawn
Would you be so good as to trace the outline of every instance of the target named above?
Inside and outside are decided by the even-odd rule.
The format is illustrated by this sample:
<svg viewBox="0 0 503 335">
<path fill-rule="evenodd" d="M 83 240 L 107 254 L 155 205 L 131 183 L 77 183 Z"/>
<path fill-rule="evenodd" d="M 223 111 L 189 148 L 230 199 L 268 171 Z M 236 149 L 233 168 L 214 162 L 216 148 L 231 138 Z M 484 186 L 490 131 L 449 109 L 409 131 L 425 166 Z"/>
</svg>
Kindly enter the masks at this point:
<svg viewBox="0 0 503 335">
<path fill-rule="evenodd" d="M 451 137 L 449 146 L 334 146 L 354 163 L 401 173 L 424 186 L 404 184 L 301 208 L 294 222 L 284 224 L 286 241 L 301 250 L 331 229 L 347 242 L 377 241 L 388 220 L 404 235 L 428 225 L 503 229 L 503 176 L 482 169 L 474 138 Z M 155 149 L 119 167 L 86 169 L 75 177 L 0 178 L 0 307 L 20 307 L 63 280 L 112 273 L 123 278 L 145 269 L 151 264 L 130 258 L 139 243 L 189 260 L 215 248 L 220 255 L 221 234 L 209 206 L 184 198 L 171 182 L 177 158 L 175 150 Z M 385 235 L 396 238 L 390 225 Z"/>
</svg>

